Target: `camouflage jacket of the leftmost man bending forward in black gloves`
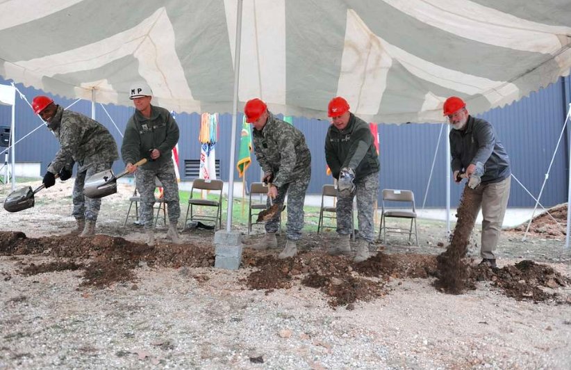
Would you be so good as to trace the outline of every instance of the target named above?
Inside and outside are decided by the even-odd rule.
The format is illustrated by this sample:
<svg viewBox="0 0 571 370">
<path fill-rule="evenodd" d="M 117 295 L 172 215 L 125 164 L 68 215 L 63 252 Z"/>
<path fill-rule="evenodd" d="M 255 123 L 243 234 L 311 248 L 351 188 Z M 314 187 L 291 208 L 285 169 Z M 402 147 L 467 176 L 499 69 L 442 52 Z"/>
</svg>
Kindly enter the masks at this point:
<svg viewBox="0 0 571 370">
<path fill-rule="evenodd" d="M 86 115 L 58 106 L 48 128 L 60 142 L 60 150 L 48 166 L 51 173 L 72 168 L 74 161 L 78 164 L 77 171 L 83 172 L 93 163 L 119 159 L 115 138 L 103 124 Z"/>
</svg>

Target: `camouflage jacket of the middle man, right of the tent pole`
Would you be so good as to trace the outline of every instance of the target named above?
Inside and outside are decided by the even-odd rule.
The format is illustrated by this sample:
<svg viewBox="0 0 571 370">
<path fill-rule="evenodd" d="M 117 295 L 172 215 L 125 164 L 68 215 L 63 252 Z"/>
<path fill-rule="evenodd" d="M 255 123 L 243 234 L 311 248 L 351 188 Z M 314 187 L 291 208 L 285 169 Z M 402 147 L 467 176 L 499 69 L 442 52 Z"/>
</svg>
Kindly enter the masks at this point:
<svg viewBox="0 0 571 370">
<path fill-rule="evenodd" d="M 311 153 L 304 134 L 270 113 L 261 131 L 252 130 L 256 159 L 264 172 L 272 172 L 272 183 L 280 187 L 311 169 Z"/>
</svg>

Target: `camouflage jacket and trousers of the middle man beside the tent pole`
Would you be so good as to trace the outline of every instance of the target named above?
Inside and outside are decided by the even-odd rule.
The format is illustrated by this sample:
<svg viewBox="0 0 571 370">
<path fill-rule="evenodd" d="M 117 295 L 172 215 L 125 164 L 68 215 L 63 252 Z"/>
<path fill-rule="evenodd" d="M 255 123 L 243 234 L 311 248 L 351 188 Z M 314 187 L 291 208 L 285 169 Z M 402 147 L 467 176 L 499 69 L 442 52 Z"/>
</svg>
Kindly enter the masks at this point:
<svg viewBox="0 0 571 370">
<path fill-rule="evenodd" d="M 311 177 L 311 153 L 304 134 L 299 129 L 268 113 L 263 129 L 252 130 L 254 152 L 264 172 L 273 175 L 272 184 L 278 189 L 274 202 L 283 203 L 289 192 L 286 235 L 289 240 L 297 241 L 301 238 L 301 229 L 304 227 L 304 202 Z M 278 226 L 279 214 L 276 214 L 275 218 L 265 224 L 265 231 L 277 232 Z"/>
</svg>

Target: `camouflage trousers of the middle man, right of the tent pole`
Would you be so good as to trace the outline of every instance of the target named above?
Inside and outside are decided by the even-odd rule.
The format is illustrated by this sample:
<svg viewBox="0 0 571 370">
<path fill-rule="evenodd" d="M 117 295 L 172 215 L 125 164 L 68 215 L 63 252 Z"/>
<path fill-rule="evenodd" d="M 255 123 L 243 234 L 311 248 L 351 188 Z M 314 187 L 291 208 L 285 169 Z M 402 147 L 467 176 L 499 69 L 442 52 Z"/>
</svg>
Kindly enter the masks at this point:
<svg viewBox="0 0 571 370">
<path fill-rule="evenodd" d="M 285 195 L 288 195 L 288 223 L 285 224 L 285 235 L 288 240 L 296 241 L 301 238 L 301 229 L 304 227 L 304 203 L 310 178 L 311 168 L 294 181 L 280 186 L 278 196 L 274 199 L 274 204 L 283 204 Z M 267 207 L 270 207 L 269 199 Z M 281 212 L 265 224 L 266 232 L 278 231 L 280 216 Z"/>
</svg>

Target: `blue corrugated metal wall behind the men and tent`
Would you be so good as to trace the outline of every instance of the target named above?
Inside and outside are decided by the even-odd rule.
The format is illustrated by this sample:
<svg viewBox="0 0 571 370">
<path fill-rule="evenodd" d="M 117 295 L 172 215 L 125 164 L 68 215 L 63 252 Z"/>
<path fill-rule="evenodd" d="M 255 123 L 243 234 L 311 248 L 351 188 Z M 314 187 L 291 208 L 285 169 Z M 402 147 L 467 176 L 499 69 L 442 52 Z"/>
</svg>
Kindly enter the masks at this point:
<svg viewBox="0 0 571 370">
<path fill-rule="evenodd" d="M 0 79 L 0 83 L 8 84 L 9 82 Z M 540 192 L 565 122 L 568 104 L 571 102 L 570 85 L 569 77 L 562 78 L 557 83 L 537 93 L 532 93 L 520 102 L 515 102 L 504 108 L 496 108 L 481 115 L 482 118 L 491 122 L 497 130 L 497 134 L 511 158 L 513 174 L 535 196 Z M 42 94 L 33 88 L 24 88 L 19 84 L 16 86 L 29 101 L 35 95 Z M 54 99 L 63 106 L 73 103 L 71 100 L 60 97 L 54 97 Z M 120 145 L 125 124 L 133 114 L 133 108 L 113 106 L 112 104 L 106 105 L 105 108 L 113 120 L 108 118 L 106 111 L 99 104 L 96 108 L 96 118 L 109 129 Z M 90 102 L 79 101 L 71 109 L 85 115 L 91 115 Z M 183 175 L 184 159 L 199 159 L 200 157 L 198 142 L 200 115 L 197 113 L 178 113 L 176 121 L 181 129 L 179 158 L 181 159 L 180 170 Z M 220 115 L 216 158 L 220 159 L 221 177 L 224 181 L 228 181 L 230 170 L 231 122 L 231 115 Z M 241 114 L 238 117 L 238 127 L 240 127 L 240 122 L 242 122 Z M 312 178 L 308 193 L 320 193 L 323 184 L 333 182 L 325 172 L 326 163 L 323 150 L 329 122 L 295 118 L 294 124 L 306 136 L 312 153 Z M 9 106 L 0 106 L 0 125 L 10 125 Z M 33 114 L 28 104 L 17 97 L 16 139 L 22 138 L 41 125 L 41 120 Z M 440 133 L 441 127 L 442 124 L 379 124 L 381 188 L 411 189 L 414 191 L 417 204 L 420 207 L 423 204 L 424 194 L 428 186 L 426 207 L 445 206 L 445 181 L 449 164 L 446 163 L 445 158 L 447 127 L 444 127 Z M 436 150 L 439 136 L 440 145 Z M 238 159 L 240 129 L 237 129 L 235 144 L 235 159 Z M 47 163 L 57 150 L 56 138 L 45 127 L 40 127 L 17 145 L 16 158 L 17 161 L 40 161 L 43 173 L 47 168 Z M 568 153 L 569 140 L 568 134 L 565 132 L 552 164 L 549 180 L 543 190 L 541 202 L 546 207 L 567 200 Z M 246 176 L 247 184 L 260 180 L 260 166 L 254 153 L 252 153 L 251 158 L 252 164 Z M 433 160 L 436 164 L 429 182 Z M 115 163 L 114 169 L 116 171 L 123 168 L 121 161 Z M 238 172 L 234 171 L 234 173 L 235 181 L 242 181 L 242 179 L 238 179 Z M 183 180 L 185 179 L 191 180 L 183 176 Z M 452 183 L 453 207 L 457 204 L 460 193 L 461 186 Z M 509 206 L 533 207 L 534 204 L 535 201 L 524 191 L 522 186 L 515 181 L 512 182 Z"/>
</svg>

